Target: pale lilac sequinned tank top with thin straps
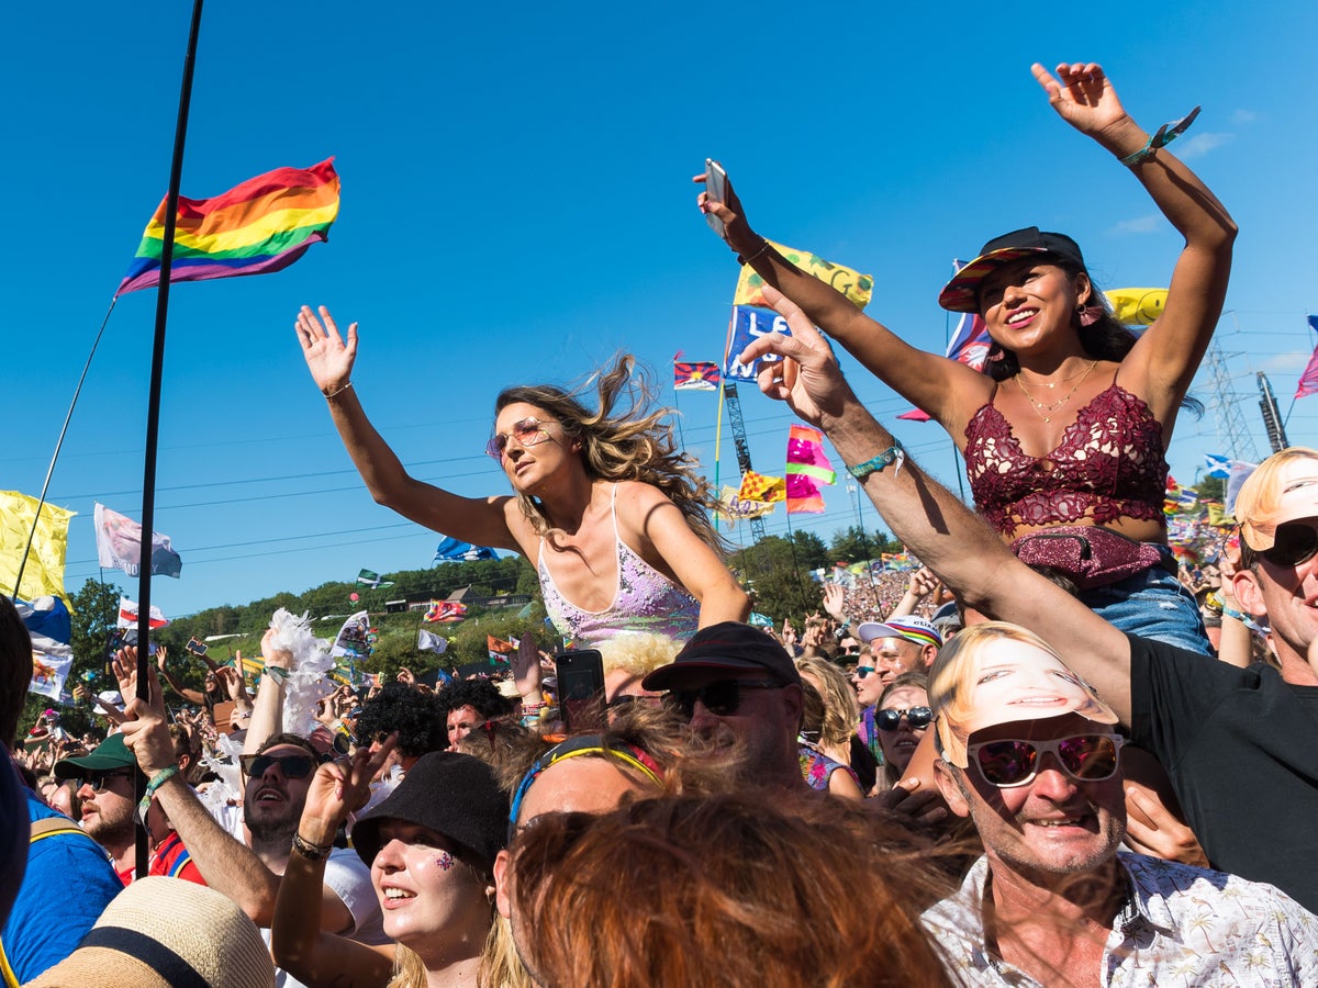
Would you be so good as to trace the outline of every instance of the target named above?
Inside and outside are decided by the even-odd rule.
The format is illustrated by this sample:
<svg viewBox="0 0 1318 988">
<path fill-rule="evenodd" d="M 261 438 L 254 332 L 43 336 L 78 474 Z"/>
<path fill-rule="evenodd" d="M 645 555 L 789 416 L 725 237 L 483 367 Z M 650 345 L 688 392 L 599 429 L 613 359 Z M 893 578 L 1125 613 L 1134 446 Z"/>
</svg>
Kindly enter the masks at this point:
<svg viewBox="0 0 1318 988">
<path fill-rule="evenodd" d="M 641 559 L 618 535 L 618 485 L 613 486 L 609 510 L 618 557 L 618 588 L 613 603 L 602 611 L 588 611 L 559 593 L 544 561 L 544 539 L 540 539 L 535 572 L 550 620 L 577 648 L 589 648 L 596 642 L 638 631 L 685 642 L 696 634 L 700 602 Z"/>
</svg>

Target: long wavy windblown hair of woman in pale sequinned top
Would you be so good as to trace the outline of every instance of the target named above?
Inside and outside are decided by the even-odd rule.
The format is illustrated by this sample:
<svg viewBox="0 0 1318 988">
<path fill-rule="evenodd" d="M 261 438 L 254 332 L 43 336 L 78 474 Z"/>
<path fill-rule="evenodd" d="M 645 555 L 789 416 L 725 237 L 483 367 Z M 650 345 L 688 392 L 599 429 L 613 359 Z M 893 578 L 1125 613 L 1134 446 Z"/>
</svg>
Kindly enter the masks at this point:
<svg viewBox="0 0 1318 988">
<path fill-rule="evenodd" d="M 592 385 L 596 411 L 581 402 Z M 568 439 L 581 444 L 587 476 L 654 485 L 677 506 L 700 540 L 724 555 L 725 547 L 708 515 L 714 506 L 713 489 L 696 473 L 695 460 L 677 449 L 672 425 L 664 422 L 670 410 L 654 407 L 654 395 L 650 377 L 637 370 L 635 357 L 623 353 L 573 391 L 554 385 L 506 387 L 494 399 L 494 414 L 517 403 L 543 408 Z M 548 536 L 552 526 L 540 503 L 521 493 L 517 502 L 535 531 Z"/>
</svg>

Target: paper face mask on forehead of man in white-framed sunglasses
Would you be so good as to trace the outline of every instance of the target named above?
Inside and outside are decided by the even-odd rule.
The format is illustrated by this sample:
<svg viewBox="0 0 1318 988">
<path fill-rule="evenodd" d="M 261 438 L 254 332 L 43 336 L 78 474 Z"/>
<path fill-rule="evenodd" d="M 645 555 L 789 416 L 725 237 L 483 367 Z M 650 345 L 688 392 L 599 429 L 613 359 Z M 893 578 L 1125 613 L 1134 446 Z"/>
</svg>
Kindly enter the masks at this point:
<svg viewBox="0 0 1318 988">
<path fill-rule="evenodd" d="M 986 664 L 1006 674 L 981 682 Z M 929 669 L 929 706 L 942 756 L 958 768 L 967 764 L 970 736 L 986 727 L 1066 714 L 1118 722 L 1112 709 L 1043 639 L 1000 620 L 957 632 L 938 653 Z"/>
</svg>

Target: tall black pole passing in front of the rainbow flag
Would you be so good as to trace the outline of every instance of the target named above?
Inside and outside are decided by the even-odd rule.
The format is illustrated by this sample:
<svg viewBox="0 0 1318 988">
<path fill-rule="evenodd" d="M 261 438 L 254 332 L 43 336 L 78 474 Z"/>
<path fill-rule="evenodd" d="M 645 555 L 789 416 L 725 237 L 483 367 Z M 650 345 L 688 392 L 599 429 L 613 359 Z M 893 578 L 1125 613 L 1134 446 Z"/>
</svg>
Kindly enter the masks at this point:
<svg viewBox="0 0 1318 988">
<path fill-rule="evenodd" d="M 165 241 L 161 244 L 161 283 L 156 294 L 156 343 L 152 346 L 152 385 L 146 397 L 146 454 L 142 466 L 142 551 L 137 578 L 137 698 L 146 700 L 150 669 L 152 617 L 152 534 L 156 531 L 156 448 L 161 424 L 161 378 L 165 374 L 165 323 L 169 315 L 169 279 L 174 269 L 174 227 L 178 220 L 178 187 L 183 177 L 183 142 L 187 138 L 187 109 L 192 101 L 192 70 L 196 66 L 196 36 L 202 29 L 202 0 L 192 0 L 192 26 L 183 55 L 183 87 L 178 96 L 178 123 L 174 125 L 174 161 L 165 198 Z M 145 796 L 137 776 L 137 800 Z M 146 877 L 146 831 L 137 830 L 137 877 Z"/>
</svg>

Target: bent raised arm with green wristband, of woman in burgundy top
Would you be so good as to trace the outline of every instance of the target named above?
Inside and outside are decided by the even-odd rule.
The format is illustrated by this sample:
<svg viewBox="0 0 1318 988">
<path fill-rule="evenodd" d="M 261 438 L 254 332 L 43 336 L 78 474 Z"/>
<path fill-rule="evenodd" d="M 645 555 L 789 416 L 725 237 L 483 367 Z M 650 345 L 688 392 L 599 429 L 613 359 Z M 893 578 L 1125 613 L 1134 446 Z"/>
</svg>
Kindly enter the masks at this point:
<svg viewBox="0 0 1318 988">
<path fill-rule="evenodd" d="M 1122 383 L 1144 398 L 1155 418 L 1169 423 L 1222 315 L 1236 225 L 1198 175 L 1165 148 L 1153 146 L 1122 107 L 1102 66 L 1060 65 L 1057 78 L 1039 63 L 1031 70 L 1058 116 L 1120 158 L 1185 237 L 1162 315 L 1122 361 Z"/>
</svg>

